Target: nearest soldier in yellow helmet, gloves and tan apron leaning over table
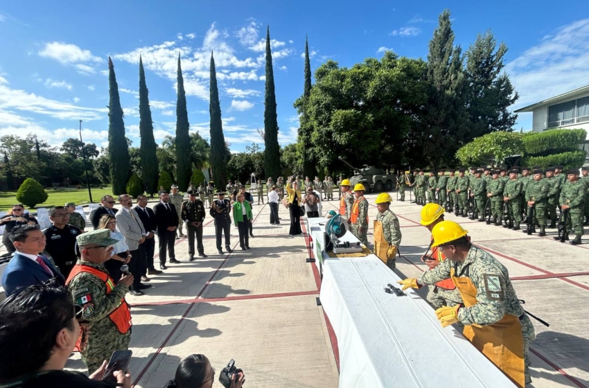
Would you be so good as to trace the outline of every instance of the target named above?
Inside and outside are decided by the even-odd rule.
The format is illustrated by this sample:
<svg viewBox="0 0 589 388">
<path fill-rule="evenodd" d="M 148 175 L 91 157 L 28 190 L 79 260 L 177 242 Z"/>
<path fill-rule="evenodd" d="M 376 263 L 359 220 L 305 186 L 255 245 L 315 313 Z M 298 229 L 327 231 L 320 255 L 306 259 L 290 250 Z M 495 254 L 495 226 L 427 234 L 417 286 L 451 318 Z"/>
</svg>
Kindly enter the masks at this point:
<svg viewBox="0 0 589 388">
<path fill-rule="evenodd" d="M 463 303 L 436 310 L 442 327 L 461 323 L 463 334 L 518 387 L 531 382 L 529 342 L 534 326 L 513 289 L 507 268 L 471 244 L 467 231 L 456 222 L 443 221 L 432 229 L 434 247 L 446 255 L 434 270 L 398 283 L 403 289 L 452 279 Z"/>
</svg>

